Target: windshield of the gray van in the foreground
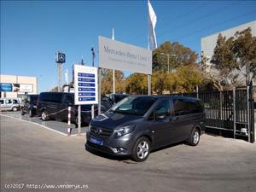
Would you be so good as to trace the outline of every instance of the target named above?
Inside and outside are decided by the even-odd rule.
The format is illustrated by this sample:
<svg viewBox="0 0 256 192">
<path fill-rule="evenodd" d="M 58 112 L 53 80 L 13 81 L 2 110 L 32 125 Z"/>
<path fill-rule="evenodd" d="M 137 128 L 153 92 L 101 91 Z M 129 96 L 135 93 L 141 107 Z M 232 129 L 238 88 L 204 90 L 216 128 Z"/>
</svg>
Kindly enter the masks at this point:
<svg viewBox="0 0 256 192">
<path fill-rule="evenodd" d="M 110 111 L 143 116 L 155 101 L 156 98 L 152 96 L 128 96 L 117 103 Z"/>
</svg>

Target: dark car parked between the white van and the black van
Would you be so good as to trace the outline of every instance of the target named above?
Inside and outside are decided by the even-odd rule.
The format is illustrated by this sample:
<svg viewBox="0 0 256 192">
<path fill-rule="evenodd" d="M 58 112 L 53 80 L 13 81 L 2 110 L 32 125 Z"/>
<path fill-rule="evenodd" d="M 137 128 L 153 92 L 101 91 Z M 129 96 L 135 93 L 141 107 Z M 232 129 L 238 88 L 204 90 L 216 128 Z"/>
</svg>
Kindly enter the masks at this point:
<svg viewBox="0 0 256 192">
<path fill-rule="evenodd" d="M 25 113 L 29 113 L 30 117 L 36 115 L 38 95 L 26 95 L 25 98 L 23 98 L 23 101 L 24 103 L 20 107 L 21 115 L 24 115 Z"/>
</svg>

